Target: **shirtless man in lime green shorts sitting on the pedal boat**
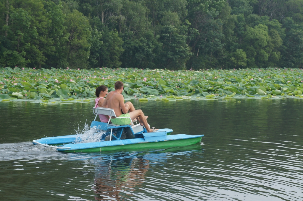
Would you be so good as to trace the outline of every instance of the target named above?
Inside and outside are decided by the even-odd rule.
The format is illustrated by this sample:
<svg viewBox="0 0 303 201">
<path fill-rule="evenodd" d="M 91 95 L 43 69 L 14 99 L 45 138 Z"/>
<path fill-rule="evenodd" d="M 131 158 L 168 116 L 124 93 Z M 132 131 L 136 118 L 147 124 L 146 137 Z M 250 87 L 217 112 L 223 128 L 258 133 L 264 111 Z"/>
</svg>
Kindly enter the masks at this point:
<svg viewBox="0 0 303 201">
<path fill-rule="evenodd" d="M 131 102 L 124 103 L 124 98 L 122 95 L 123 92 L 123 83 L 117 81 L 115 83 L 115 91 L 111 91 L 107 94 L 102 107 L 114 109 L 116 116 L 118 117 L 130 117 L 132 121 L 137 118 L 140 122 L 140 125 L 144 125 L 147 132 L 152 132 L 152 129 L 149 128 L 147 120 L 142 112 L 142 110 L 136 110 L 134 105 Z M 129 110 L 129 113 L 127 113 Z M 111 122 L 117 125 L 128 125 L 130 122 L 129 118 L 111 118 Z M 158 129 L 157 129 L 158 130 Z"/>
</svg>

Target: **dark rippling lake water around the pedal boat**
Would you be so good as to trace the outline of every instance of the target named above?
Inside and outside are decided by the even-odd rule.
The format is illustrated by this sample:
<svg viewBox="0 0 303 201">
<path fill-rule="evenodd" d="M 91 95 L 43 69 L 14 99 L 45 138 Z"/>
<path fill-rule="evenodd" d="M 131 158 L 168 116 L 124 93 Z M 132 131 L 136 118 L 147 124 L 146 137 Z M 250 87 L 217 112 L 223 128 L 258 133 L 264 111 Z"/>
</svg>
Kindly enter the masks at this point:
<svg viewBox="0 0 303 201">
<path fill-rule="evenodd" d="M 93 103 L 0 102 L 1 200 L 302 200 L 303 99 L 132 100 L 156 128 L 204 134 L 170 149 L 59 153 Z"/>
</svg>

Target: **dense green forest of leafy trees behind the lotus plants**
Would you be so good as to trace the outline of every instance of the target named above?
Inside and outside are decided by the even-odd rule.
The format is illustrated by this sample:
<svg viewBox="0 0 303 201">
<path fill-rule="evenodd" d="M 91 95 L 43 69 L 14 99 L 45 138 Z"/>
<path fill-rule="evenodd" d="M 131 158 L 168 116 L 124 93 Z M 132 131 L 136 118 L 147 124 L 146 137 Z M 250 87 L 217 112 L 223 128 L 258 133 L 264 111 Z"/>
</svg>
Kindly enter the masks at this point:
<svg viewBox="0 0 303 201">
<path fill-rule="evenodd" d="M 1 0 L 0 67 L 303 65 L 302 0 Z"/>
</svg>

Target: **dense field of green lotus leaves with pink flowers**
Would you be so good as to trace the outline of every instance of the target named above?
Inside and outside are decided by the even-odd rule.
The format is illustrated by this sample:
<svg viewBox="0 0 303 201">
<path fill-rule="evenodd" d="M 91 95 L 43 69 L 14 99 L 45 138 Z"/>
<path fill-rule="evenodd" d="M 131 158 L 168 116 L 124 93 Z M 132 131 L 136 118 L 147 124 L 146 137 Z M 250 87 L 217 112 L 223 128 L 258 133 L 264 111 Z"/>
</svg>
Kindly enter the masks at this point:
<svg viewBox="0 0 303 201">
<path fill-rule="evenodd" d="M 89 102 L 95 98 L 97 86 L 105 85 L 112 91 L 117 80 L 124 83 L 126 99 L 138 98 L 140 101 L 303 98 L 302 69 L 170 71 L 7 67 L 0 68 L 0 100 L 26 99 L 41 104 Z"/>
</svg>

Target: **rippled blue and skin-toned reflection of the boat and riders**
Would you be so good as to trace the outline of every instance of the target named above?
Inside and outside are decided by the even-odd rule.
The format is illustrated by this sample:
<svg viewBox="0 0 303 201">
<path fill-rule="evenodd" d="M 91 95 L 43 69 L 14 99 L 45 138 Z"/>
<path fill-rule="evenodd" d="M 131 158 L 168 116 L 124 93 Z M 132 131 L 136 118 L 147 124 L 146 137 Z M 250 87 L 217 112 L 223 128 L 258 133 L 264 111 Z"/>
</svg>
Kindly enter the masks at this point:
<svg viewBox="0 0 303 201">
<path fill-rule="evenodd" d="M 123 194 L 138 190 L 151 165 L 166 163 L 166 153 L 125 154 L 104 160 L 96 170 L 96 200 L 124 200 Z M 122 195 L 119 193 L 122 192 Z"/>
</svg>

